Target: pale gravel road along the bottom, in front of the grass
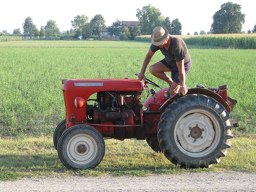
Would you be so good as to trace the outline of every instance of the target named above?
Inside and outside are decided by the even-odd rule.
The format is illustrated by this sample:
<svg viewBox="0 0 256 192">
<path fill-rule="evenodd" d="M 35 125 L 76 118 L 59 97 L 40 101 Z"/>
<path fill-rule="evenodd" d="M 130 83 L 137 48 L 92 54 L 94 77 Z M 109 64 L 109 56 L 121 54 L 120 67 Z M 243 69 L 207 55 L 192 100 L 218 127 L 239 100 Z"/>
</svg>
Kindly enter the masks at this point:
<svg viewBox="0 0 256 192">
<path fill-rule="evenodd" d="M 256 191 L 256 173 L 26 178 L 0 181 L 0 191 Z"/>
</svg>

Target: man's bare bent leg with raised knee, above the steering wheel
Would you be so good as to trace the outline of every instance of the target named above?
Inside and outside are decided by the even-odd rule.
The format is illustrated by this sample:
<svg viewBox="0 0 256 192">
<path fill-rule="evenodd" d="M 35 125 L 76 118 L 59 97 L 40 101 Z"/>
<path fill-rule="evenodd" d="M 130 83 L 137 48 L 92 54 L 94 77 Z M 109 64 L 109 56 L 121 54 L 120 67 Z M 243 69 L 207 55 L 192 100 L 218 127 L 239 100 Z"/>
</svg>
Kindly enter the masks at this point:
<svg viewBox="0 0 256 192">
<path fill-rule="evenodd" d="M 163 65 L 162 62 L 158 61 L 154 65 L 150 66 L 150 73 L 154 75 L 155 77 L 164 80 L 169 84 L 169 86 L 172 86 L 173 79 L 170 78 L 166 73 L 164 72 L 172 72 L 170 71 L 165 65 Z M 177 83 L 176 83 L 177 84 Z M 178 91 L 177 91 L 178 93 Z"/>
</svg>

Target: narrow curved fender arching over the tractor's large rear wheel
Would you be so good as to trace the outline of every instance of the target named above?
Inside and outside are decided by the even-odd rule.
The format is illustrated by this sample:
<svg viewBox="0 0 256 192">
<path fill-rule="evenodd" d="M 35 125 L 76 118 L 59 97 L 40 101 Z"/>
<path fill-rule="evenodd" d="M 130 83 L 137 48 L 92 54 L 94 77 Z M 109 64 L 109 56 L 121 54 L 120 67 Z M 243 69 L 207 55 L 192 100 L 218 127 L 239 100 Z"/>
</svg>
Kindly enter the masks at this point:
<svg viewBox="0 0 256 192">
<path fill-rule="evenodd" d="M 187 90 L 186 95 L 193 95 L 193 94 L 200 94 L 200 95 L 205 95 L 205 96 L 211 97 L 211 98 L 215 99 L 216 101 L 218 101 L 219 103 L 221 103 L 228 113 L 230 113 L 230 111 L 231 111 L 228 103 L 214 91 L 204 89 L 204 88 L 191 88 L 191 89 Z M 160 106 L 159 111 L 164 112 L 164 110 L 167 108 L 167 106 L 169 106 L 169 104 L 173 103 L 176 99 L 178 99 L 180 97 L 184 97 L 184 96 L 175 94 L 173 97 L 170 97 Z"/>
</svg>

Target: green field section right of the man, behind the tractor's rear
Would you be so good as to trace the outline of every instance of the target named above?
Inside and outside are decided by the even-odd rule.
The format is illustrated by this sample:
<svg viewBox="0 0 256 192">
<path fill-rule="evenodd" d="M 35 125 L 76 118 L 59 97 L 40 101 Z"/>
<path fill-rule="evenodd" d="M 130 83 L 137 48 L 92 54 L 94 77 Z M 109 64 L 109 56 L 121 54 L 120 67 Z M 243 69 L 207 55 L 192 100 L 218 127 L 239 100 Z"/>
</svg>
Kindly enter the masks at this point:
<svg viewBox="0 0 256 192">
<path fill-rule="evenodd" d="M 238 101 L 231 117 L 241 122 L 241 130 L 256 133 L 256 59 L 255 50 L 190 50 L 193 69 L 187 84 L 199 82 L 206 87 L 228 84 L 228 95 Z"/>
</svg>

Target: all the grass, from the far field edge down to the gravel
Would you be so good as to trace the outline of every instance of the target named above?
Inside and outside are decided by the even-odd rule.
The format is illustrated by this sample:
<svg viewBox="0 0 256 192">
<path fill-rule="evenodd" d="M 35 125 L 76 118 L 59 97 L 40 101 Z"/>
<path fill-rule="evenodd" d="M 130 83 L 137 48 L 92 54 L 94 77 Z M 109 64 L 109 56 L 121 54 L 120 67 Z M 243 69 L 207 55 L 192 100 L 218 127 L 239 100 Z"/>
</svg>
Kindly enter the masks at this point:
<svg viewBox="0 0 256 192">
<path fill-rule="evenodd" d="M 154 153 L 145 141 L 136 140 L 107 140 L 106 155 L 93 170 L 66 170 L 58 159 L 52 135 L 58 122 L 65 119 L 61 79 L 136 78 L 134 73 L 140 71 L 149 47 L 148 42 L 130 41 L 0 42 L 0 179 L 205 170 L 179 169 Z M 256 50 L 189 47 L 189 53 L 193 67 L 188 87 L 228 84 L 228 95 L 238 100 L 230 116 L 241 127 L 234 130 L 227 157 L 208 170 L 255 171 Z M 157 52 L 151 63 L 162 58 Z M 148 71 L 146 76 L 167 86 Z M 240 137 L 241 133 L 248 138 Z"/>
</svg>

